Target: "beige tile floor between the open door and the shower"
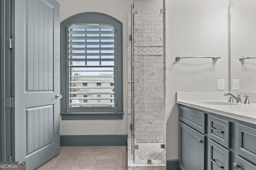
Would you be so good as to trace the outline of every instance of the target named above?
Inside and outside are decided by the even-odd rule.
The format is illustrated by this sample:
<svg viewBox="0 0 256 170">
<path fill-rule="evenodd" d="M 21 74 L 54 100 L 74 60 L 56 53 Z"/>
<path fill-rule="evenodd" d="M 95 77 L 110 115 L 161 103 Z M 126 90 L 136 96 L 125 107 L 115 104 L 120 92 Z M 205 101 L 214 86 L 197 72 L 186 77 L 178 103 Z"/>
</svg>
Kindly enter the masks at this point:
<svg viewBox="0 0 256 170">
<path fill-rule="evenodd" d="M 127 146 L 60 147 L 36 170 L 127 170 Z"/>
</svg>

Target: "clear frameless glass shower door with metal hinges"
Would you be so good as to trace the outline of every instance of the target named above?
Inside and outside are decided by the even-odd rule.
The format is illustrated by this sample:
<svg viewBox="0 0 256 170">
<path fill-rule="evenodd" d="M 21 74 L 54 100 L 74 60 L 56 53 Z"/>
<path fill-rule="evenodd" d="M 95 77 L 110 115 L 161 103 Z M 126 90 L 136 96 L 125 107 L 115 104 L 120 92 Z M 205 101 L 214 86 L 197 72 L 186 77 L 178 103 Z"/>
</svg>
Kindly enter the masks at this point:
<svg viewBox="0 0 256 170">
<path fill-rule="evenodd" d="M 132 13 L 134 164 L 165 164 L 163 15 Z"/>
</svg>

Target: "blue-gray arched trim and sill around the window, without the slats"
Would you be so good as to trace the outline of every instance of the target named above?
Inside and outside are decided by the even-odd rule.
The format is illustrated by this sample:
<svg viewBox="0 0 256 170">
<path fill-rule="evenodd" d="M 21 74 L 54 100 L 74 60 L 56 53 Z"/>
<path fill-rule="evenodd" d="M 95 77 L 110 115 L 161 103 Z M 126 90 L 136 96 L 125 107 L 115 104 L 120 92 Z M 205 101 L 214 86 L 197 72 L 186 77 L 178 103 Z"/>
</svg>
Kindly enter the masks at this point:
<svg viewBox="0 0 256 170">
<path fill-rule="evenodd" d="M 115 107 L 114 108 L 82 108 L 74 107 L 73 111 L 67 111 L 68 107 L 68 29 L 70 25 L 74 23 L 100 23 L 100 24 L 111 24 L 115 29 L 115 67 L 118 71 L 115 72 L 114 82 L 115 86 Z M 60 24 L 60 33 L 61 33 L 61 115 L 62 120 L 81 120 L 81 119 L 123 119 L 123 69 L 118 67 L 123 65 L 123 30 L 122 22 L 116 18 L 109 16 L 107 14 L 99 12 L 84 12 L 76 14 L 62 21 Z M 123 68 L 123 66 L 122 66 Z M 87 109 L 88 112 L 83 112 L 83 109 Z M 111 111 L 112 109 L 112 111 Z M 93 110 L 93 111 L 92 111 Z M 95 110 L 95 111 L 94 111 Z"/>
</svg>

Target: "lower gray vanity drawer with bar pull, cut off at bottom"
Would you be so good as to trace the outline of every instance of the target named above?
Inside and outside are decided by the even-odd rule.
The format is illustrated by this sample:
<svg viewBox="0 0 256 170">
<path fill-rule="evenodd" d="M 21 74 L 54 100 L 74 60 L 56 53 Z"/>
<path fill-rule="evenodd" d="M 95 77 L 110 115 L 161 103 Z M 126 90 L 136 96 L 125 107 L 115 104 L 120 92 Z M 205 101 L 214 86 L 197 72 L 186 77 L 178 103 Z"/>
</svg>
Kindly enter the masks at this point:
<svg viewBox="0 0 256 170">
<path fill-rule="evenodd" d="M 208 139 L 208 170 L 230 169 L 231 151 Z"/>
</svg>

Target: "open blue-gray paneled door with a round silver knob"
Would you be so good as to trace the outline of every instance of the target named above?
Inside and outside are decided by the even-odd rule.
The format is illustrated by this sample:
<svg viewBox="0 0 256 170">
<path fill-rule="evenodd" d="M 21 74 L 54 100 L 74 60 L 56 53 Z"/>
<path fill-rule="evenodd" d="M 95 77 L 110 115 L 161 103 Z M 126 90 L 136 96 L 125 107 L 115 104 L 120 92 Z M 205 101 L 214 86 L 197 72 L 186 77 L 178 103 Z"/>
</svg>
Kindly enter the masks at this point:
<svg viewBox="0 0 256 170">
<path fill-rule="evenodd" d="M 32 170 L 60 148 L 59 4 L 16 0 L 14 11 L 15 160 Z"/>
</svg>

